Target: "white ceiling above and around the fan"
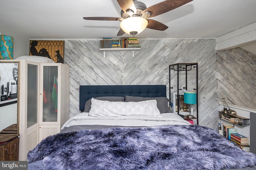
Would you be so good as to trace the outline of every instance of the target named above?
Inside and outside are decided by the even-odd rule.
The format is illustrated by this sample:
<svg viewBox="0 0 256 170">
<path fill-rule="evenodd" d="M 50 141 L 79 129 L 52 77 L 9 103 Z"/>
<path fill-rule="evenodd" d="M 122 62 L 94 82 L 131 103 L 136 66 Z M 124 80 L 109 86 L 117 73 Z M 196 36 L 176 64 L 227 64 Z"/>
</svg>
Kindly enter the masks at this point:
<svg viewBox="0 0 256 170">
<path fill-rule="evenodd" d="M 30 39 L 116 38 L 119 21 L 83 17 L 120 17 L 116 0 L 0 0 L 0 25 Z M 140 0 L 147 7 L 163 0 Z M 145 29 L 139 38 L 212 38 L 256 22 L 256 0 L 193 0 L 150 18 L 169 28 Z M 1 30 L 0 30 L 1 32 Z M 121 37 L 129 37 L 124 34 Z"/>
</svg>

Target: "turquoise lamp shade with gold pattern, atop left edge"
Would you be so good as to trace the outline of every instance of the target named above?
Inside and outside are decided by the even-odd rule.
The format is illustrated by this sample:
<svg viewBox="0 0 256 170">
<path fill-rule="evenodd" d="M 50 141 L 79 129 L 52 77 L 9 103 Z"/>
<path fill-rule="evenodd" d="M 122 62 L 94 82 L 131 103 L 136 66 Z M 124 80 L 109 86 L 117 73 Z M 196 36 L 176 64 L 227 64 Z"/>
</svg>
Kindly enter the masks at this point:
<svg viewBox="0 0 256 170">
<path fill-rule="evenodd" d="M 0 35 L 0 59 L 13 59 L 13 37 Z"/>
</svg>

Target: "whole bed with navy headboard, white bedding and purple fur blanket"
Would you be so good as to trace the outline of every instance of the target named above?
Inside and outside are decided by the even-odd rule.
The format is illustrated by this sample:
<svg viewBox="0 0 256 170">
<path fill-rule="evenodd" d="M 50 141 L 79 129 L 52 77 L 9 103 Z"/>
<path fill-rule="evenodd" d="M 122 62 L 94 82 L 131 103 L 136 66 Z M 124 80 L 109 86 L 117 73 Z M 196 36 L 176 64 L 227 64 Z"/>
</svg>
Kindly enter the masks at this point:
<svg viewBox="0 0 256 170">
<path fill-rule="evenodd" d="M 169 113 L 165 85 L 80 86 L 80 110 L 30 150 L 28 169 L 256 169 L 255 154 Z"/>
</svg>

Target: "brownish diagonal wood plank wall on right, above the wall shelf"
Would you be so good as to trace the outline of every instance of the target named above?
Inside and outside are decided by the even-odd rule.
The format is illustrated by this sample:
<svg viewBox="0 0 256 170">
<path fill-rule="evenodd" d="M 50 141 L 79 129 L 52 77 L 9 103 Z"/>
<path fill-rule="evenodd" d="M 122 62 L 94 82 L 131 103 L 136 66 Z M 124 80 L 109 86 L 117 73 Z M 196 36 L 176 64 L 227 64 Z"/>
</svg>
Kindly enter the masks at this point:
<svg viewBox="0 0 256 170">
<path fill-rule="evenodd" d="M 218 101 L 256 109 L 256 55 L 241 48 L 217 51 Z"/>
</svg>

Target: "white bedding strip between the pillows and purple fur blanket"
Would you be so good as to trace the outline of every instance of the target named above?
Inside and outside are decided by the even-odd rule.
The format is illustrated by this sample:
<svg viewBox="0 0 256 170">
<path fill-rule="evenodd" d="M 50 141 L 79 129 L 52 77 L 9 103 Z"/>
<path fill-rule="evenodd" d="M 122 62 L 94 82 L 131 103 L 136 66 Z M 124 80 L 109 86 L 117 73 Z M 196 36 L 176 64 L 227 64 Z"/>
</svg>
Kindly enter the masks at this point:
<svg viewBox="0 0 256 170">
<path fill-rule="evenodd" d="M 79 113 L 71 117 L 61 129 L 74 125 L 116 125 L 116 126 L 159 126 L 159 125 L 191 125 L 175 113 L 162 113 L 159 117 L 143 115 L 127 115 L 118 117 L 94 117 L 88 113 Z"/>
</svg>

